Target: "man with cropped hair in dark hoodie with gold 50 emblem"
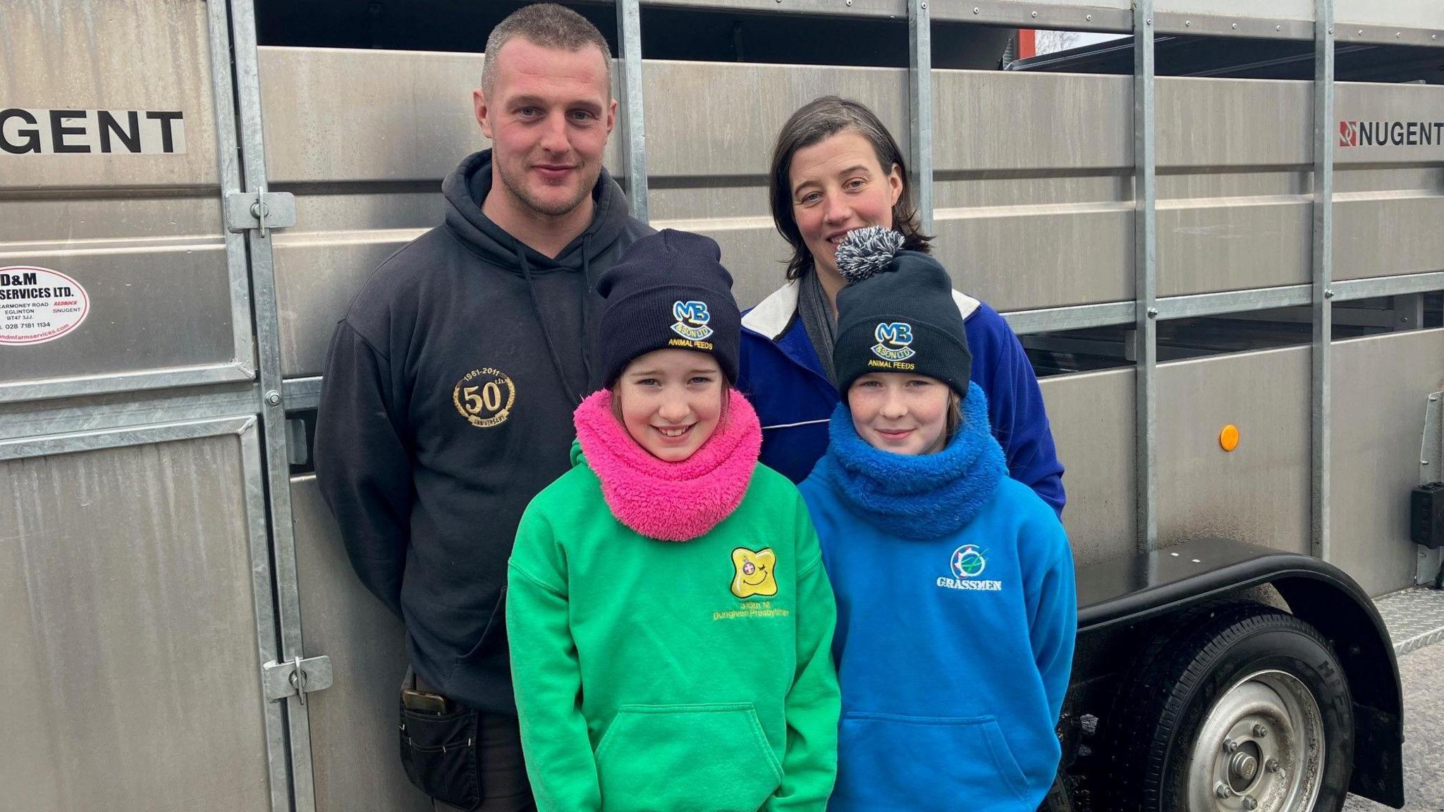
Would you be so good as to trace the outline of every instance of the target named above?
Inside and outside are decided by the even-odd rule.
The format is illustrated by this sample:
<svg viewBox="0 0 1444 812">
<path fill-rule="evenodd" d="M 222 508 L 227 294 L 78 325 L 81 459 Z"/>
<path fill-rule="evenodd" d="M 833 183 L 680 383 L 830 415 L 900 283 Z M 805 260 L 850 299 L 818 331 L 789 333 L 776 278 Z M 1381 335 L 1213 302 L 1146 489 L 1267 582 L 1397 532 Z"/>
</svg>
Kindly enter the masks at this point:
<svg viewBox="0 0 1444 812">
<path fill-rule="evenodd" d="M 406 621 L 403 761 L 439 808 L 534 808 L 507 558 L 601 384 L 593 283 L 651 231 L 602 169 L 609 65 L 602 35 L 560 6 L 492 30 L 472 92 L 492 147 L 445 179 L 445 223 L 377 269 L 326 358 L 316 478 L 357 575 Z"/>
</svg>

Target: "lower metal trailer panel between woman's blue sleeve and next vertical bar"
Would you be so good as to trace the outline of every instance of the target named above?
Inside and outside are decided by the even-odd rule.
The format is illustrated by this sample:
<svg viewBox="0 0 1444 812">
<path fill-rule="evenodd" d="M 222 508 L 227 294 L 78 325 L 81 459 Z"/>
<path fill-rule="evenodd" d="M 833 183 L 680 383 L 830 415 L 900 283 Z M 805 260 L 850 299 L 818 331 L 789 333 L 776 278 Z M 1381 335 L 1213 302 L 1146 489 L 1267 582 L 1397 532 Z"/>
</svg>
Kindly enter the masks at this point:
<svg viewBox="0 0 1444 812">
<path fill-rule="evenodd" d="M 1074 562 L 1134 552 L 1134 370 L 1038 381 L 1066 471 L 1063 526 Z"/>
</svg>

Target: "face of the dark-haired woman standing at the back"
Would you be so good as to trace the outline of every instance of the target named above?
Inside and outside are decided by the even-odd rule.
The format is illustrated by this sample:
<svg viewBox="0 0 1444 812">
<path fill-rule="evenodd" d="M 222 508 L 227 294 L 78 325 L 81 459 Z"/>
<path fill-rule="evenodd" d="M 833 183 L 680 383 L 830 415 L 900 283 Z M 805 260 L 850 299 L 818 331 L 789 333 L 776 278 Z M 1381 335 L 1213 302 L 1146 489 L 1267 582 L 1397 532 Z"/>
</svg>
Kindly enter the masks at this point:
<svg viewBox="0 0 1444 812">
<path fill-rule="evenodd" d="M 793 220 L 816 266 L 838 273 L 838 243 L 853 228 L 892 228 L 892 205 L 902 195 L 898 166 L 884 169 L 868 139 L 852 130 L 829 136 L 793 155 L 788 168 Z"/>
</svg>

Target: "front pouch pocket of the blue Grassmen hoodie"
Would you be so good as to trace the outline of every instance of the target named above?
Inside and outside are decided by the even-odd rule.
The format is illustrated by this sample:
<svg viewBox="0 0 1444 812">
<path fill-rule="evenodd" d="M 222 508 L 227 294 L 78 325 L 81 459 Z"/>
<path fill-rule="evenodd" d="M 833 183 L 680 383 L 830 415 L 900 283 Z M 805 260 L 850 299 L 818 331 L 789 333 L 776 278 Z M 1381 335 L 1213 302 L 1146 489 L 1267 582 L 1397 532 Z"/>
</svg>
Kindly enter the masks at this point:
<svg viewBox="0 0 1444 812">
<path fill-rule="evenodd" d="M 829 809 L 1015 809 L 1027 795 L 993 717 L 842 717 Z"/>
</svg>

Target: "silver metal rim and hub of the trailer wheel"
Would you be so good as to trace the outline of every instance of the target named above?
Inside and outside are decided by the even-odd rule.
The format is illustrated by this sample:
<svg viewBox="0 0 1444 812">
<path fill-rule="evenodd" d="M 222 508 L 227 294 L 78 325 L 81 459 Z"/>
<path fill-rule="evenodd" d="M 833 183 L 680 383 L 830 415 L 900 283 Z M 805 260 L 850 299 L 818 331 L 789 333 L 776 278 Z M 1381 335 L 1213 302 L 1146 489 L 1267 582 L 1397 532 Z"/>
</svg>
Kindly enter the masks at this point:
<svg viewBox="0 0 1444 812">
<path fill-rule="evenodd" d="M 1188 754 L 1191 812 L 1310 812 L 1324 776 L 1324 722 L 1297 676 L 1259 670 L 1209 708 Z"/>
</svg>

